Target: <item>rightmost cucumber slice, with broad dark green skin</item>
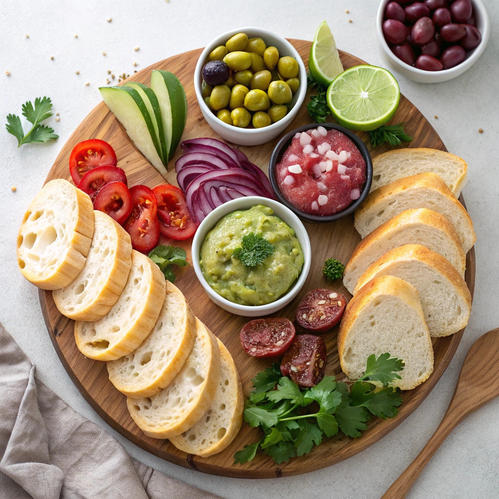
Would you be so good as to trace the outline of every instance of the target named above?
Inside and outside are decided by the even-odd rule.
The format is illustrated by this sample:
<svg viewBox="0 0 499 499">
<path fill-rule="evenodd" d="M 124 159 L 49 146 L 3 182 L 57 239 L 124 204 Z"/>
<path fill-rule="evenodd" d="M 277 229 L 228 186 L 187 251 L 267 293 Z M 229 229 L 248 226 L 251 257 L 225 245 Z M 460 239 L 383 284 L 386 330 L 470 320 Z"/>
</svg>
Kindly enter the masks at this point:
<svg viewBox="0 0 499 499">
<path fill-rule="evenodd" d="M 187 97 L 182 83 L 170 71 L 153 70 L 151 88 L 158 97 L 165 143 L 169 144 L 168 160 L 171 160 L 187 122 Z"/>
</svg>

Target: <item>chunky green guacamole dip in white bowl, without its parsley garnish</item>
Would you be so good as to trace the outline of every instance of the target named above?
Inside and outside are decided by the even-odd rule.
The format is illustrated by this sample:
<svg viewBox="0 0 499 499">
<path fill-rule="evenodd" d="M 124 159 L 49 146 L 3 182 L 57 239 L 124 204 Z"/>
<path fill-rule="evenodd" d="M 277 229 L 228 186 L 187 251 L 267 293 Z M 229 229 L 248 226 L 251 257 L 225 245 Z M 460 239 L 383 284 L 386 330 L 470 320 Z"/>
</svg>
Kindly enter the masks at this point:
<svg viewBox="0 0 499 499">
<path fill-rule="evenodd" d="M 284 294 L 298 278 L 303 252 L 294 231 L 263 205 L 226 215 L 201 247 L 201 269 L 218 294 L 241 305 L 264 305 Z M 274 248 L 261 263 L 249 267 L 233 256 L 244 236 L 253 233 Z"/>
</svg>

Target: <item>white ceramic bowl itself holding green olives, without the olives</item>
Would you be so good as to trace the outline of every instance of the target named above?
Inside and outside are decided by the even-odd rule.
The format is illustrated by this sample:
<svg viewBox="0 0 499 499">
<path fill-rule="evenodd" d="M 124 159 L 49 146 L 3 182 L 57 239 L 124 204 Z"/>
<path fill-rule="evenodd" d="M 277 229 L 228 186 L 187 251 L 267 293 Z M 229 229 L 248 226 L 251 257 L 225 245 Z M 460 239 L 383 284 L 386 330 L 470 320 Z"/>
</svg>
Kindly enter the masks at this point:
<svg viewBox="0 0 499 499">
<path fill-rule="evenodd" d="M 294 57 L 298 62 L 298 77 L 300 79 L 300 86 L 298 88 L 298 91 L 293 95 L 293 99 L 291 100 L 293 107 L 286 114 L 286 116 L 284 116 L 284 118 L 263 128 L 238 128 L 224 123 L 223 121 L 219 120 L 215 114 L 213 114 L 210 108 L 206 105 L 206 102 L 203 100 L 203 96 L 201 95 L 201 84 L 203 83 L 203 66 L 208 60 L 208 55 L 210 55 L 210 52 L 215 47 L 218 47 L 219 45 L 225 45 L 226 41 L 231 36 L 234 36 L 237 33 L 246 33 L 249 38 L 259 36 L 266 43 L 267 47 L 274 46 L 277 48 L 277 50 L 279 51 L 279 57 L 289 55 L 291 57 Z M 201 53 L 200 58 L 198 59 L 198 63 L 196 64 L 196 70 L 194 71 L 194 89 L 196 90 L 196 96 L 198 98 L 203 116 L 218 135 L 228 140 L 229 142 L 232 142 L 233 144 L 239 144 L 242 146 L 256 146 L 258 144 L 264 144 L 265 142 L 268 142 L 269 140 L 277 137 L 277 135 L 283 132 L 296 116 L 296 113 L 298 112 L 301 104 L 303 103 L 303 100 L 305 99 L 305 93 L 307 91 L 307 73 L 300 55 L 291 45 L 291 43 L 289 43 L 286 39 L 276 35 L 275 33 L 272 33 L 272 31 L 268 31 L 267 29 L 245 27 L 227 31 L 227 33 L 217 36 L 217 38 L 212 40 L 205 47 L 205 49 Z"/>
</svg>

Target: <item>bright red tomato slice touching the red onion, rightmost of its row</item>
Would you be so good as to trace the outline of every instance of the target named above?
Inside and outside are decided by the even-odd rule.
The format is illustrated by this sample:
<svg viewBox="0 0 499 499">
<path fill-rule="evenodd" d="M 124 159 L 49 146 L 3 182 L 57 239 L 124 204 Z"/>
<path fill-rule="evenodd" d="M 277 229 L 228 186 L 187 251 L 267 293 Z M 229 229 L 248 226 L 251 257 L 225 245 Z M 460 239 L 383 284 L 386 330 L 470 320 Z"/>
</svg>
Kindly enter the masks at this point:
<svg viewBox="0 0 499 499">
<path fill-rule="evenodd" d="M 158 202 L 158 220 L 161 234 L 177 241 L 194 235 L 197 225 L 187 209 L 184 193 L 175 186 L 163 184 L 153 189 Z"/>
</svg>

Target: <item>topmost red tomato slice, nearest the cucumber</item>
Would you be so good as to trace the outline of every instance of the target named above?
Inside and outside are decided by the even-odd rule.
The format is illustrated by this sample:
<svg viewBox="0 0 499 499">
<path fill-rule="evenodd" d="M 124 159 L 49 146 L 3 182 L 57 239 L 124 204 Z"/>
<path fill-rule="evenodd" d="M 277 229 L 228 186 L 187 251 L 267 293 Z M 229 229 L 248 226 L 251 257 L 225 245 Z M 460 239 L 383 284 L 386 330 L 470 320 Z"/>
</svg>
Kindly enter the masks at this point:
<svg viewBox="0 0 499 499">
<path fill-rule="evenodd" d="M 81 178 L 97 166 L 116 166 L 118 160 L 114 149 L 100 139 L 84 140 L 76 144 L 69 157 L 69 172 L 78 185 Z"/>
</svg>

